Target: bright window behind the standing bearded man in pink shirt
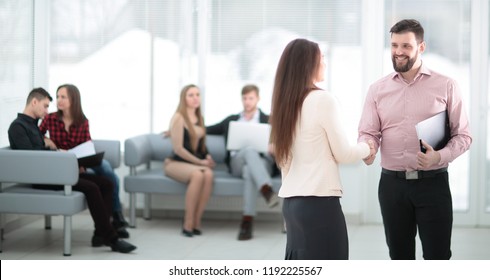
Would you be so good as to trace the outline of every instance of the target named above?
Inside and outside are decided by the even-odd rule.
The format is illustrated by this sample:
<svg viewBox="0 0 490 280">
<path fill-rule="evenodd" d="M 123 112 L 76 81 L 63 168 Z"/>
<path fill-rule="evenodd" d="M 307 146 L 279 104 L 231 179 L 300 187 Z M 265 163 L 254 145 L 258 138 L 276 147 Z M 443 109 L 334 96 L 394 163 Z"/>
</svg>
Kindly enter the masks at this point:
<svg viewBox="0 0 490 280">
<path fill-rule="evenodd" d="M 460 85 L 463 102 L 469 117 L 470 108 L 470 1 L 401 1 L 385 2 L 387 30 L 384 71 L 393 71 L 390 57 L 389 34 L 391 26 L 404 18 L 415 18 L 425 29 L 427 49 L 422 56 L 433 71 L 452 77 Z M 444 11 L 434 13 L 433 11 Z M 464 153 L 449 165 L 453 207 L 456 211 L 469 208 L 469 153 Z"/>
</svg>

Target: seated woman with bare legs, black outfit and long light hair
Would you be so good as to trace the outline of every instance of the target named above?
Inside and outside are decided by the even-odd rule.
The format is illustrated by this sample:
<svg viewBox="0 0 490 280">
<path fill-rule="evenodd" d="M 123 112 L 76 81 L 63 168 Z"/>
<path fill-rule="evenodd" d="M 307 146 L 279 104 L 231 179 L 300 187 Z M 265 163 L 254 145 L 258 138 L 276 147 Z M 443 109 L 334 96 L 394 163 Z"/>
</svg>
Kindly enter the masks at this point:
<svg viewBox="0 0 490 280">
<path fill-rule="evenodd" d="M 206 127 L 197 86 L 182 88 L 169 132 L 174 155 L 165 159 L 165 174 L 187 184 L 182 234 L 200 235 L 201 218 L 213 189 L 215 162 L 206 148 Z"/>
</svg>

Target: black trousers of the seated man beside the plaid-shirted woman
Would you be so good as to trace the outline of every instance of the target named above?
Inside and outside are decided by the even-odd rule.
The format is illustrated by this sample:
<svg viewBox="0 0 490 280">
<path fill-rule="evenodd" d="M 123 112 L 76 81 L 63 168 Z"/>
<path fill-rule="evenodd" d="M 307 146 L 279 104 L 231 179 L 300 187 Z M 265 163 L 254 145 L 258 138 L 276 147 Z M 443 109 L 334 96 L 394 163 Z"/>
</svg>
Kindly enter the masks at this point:
<svg viewBox="0 0 490 280">
<path fill-rule="evenodd" d="M 62 190 L 59 185 L 34 185 L 36 189 Z M 78 182 L 72 188 L 85 195 L 90 215 L 95 224 L 94 235 L 104 238 L 106 244 L 117 239 L 117 233 L 111 225 L 112 192 L 114 185 L 105 177 L 93 174 L 80 174 Z"/>
</svg>

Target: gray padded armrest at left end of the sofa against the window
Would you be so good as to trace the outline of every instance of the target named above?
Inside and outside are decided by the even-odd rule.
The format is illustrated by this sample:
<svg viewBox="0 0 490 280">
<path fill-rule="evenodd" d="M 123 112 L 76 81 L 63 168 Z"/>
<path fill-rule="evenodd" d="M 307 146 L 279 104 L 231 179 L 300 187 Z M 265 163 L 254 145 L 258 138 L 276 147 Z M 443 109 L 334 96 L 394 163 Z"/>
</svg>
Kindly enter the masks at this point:
<svg viewBox="0 0 490 280">
<path fill-rule="evenodd" d="M 131 137 L 124 141 L 124 164 L 135 167 L 148 163 L 152 158 L 152 149 L 148 135 Z"/>
</svg>

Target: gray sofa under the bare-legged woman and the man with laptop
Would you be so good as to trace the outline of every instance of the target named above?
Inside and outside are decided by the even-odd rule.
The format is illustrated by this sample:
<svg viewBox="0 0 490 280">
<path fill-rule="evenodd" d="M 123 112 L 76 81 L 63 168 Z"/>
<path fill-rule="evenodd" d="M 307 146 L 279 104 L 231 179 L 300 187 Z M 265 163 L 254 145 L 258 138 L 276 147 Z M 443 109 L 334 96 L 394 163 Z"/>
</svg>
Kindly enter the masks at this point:
<svg viewBox="0 0 490 280">
<path fill-rule="evenodd" d="M 224 137 L 207 135 L 208 150 L 216 161 L 214 170 L 213 196 L 243 196 L 243 179 L 228 173 L 224 163 L 226 148 Z M 143 217 L 151 216 L 151 195 L 185 195 L 186 185 L 165 176 L 163 169 L 152 167 L 153 161 L 163 162 L 172 154 L 172 143 L 161 134 L 144 134 L 127 139 L 124 142 L 124 163 L 129 166 L 130 174 L 124 177 L 124 189 L 130 195 L 130 225 L 136 227 L 136 194 L 145 195 Z M 281 185 L 280 176 L 273 178 L 273 187 L 277 191 Z"/>
</svg>

